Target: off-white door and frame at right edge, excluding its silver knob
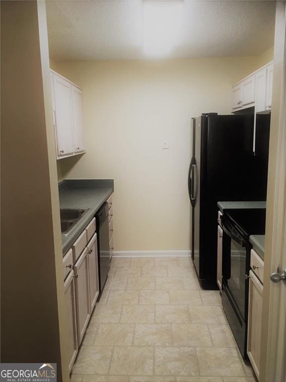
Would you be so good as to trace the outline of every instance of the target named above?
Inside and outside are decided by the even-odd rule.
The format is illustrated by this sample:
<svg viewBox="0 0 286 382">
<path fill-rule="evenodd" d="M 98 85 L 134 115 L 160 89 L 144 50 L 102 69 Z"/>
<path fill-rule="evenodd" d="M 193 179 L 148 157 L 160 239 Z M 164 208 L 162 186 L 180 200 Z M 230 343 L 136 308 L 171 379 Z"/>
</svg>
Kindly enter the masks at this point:
<svg viewBox="0 0 286 382">
<path fill-rule="evenodd" d="M 277 1 L 266 212 L 260 382 L 285 382 L 286 298 L 270 274 L 286 268 L 286 1 Z"/>
</svg>

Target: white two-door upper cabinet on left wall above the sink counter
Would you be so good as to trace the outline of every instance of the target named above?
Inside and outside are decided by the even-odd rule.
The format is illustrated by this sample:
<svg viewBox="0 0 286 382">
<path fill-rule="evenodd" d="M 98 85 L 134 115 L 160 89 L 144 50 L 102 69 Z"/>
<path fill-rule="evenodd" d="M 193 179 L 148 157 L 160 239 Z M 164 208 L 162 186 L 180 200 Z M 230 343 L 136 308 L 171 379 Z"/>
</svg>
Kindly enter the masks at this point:
<svg viewBox="0 0 286 382">
<path fill-rule="evenodd" d="M 82 91 L 51 71 L 57 159 L 85 152 Z"/>
</svg>

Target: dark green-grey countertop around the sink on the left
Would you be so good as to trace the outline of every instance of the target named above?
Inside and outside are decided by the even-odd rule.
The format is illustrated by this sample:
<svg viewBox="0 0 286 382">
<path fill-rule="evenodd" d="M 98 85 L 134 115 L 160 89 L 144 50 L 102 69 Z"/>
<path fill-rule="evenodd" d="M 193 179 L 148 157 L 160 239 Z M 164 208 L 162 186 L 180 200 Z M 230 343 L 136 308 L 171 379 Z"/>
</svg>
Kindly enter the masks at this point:
<svg viewBox="0 0 286 382">
<path fill-rule="evenodd" d="M 61 208 L 89 208 L 71 229 L 62 235 L 63 254 L 72 246 L 100 206 L 114 191 L 112 179 L 65 180 L 59 183 Z"/>
</svg>

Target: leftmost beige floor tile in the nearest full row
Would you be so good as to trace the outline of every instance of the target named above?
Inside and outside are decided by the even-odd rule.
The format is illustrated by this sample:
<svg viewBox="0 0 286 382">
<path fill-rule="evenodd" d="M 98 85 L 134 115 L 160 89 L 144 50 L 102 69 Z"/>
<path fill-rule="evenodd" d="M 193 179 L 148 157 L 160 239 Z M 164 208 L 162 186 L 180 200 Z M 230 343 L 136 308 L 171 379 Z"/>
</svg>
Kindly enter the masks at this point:
<svg viewBox="0 0 286 382">
<path fill-rule="evenodd" d="M 112 346 L 81 346 L 72 373 L 106 375 L 112 350 Z"/>
</svg>

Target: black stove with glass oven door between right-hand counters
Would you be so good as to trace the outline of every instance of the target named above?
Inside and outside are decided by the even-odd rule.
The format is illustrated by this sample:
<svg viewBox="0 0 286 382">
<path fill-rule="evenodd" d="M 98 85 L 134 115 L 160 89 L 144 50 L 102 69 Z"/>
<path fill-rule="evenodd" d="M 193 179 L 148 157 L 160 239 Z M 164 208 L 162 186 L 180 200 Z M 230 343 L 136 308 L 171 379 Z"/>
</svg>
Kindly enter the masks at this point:
<svg viewBox="0 0 286 382">
<path fill-rule="evenodd" d="M 265 233 L 265 208 L 223 210 L 222 307 L 243 358 L 247 359 L 250 235 Z"/>
</svg>

